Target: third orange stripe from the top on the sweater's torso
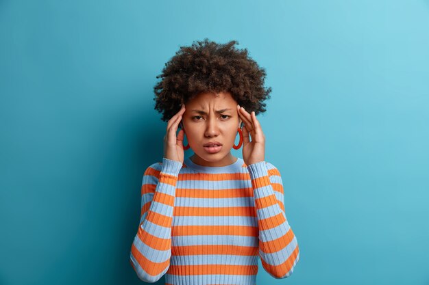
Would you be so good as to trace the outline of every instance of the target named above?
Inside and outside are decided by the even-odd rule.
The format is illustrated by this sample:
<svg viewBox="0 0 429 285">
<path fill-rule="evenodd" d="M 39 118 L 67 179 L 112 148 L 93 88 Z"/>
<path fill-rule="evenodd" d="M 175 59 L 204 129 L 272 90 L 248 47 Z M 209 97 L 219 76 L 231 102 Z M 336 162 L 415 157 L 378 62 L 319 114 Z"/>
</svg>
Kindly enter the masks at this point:
<svg viewBox="0 0 429 285">
<path fill-rule="evenodd" d="M 244 216 L 256 217 L 256 208 L 249 207 L 186 207 L 175 206 L 173 208 L 173 216 Z"/>
</svg>

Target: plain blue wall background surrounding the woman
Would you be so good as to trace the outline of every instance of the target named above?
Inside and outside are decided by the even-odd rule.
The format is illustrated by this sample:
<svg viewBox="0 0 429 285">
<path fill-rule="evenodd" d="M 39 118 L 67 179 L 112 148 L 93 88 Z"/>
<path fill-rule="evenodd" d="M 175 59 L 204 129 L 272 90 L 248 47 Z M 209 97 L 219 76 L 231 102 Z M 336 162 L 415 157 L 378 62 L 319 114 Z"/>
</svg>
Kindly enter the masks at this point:
<svg viewBox="0 0 429 285">
<path fill-rule="evenodd" d="M 258 118 L 300 260 L 258 284 L 429 284 L 428 0 L 3 0 L 0 36 L 0 284 L 142 284 L 152 88 L 204 38 L 273 88 Z"/>
</svg>

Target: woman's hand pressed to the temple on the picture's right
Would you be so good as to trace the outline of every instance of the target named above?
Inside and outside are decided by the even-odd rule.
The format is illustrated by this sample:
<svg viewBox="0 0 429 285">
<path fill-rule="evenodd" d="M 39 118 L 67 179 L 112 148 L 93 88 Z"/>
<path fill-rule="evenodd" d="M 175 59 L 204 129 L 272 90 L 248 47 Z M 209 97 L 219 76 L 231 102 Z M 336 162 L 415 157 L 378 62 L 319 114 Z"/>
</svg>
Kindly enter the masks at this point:
<svg viewBox="0 0 429 285">
<path fill-rule="evenodd" d="M 256 119 L 255 112 L 247 111 L 237 105 L 238 116 L 243 120 L 243 160 L 246 165 L 265 161 L 265 135 L 259 121 Z M 250 141 L 250 136 L 252 141 Z"/>
</svg>

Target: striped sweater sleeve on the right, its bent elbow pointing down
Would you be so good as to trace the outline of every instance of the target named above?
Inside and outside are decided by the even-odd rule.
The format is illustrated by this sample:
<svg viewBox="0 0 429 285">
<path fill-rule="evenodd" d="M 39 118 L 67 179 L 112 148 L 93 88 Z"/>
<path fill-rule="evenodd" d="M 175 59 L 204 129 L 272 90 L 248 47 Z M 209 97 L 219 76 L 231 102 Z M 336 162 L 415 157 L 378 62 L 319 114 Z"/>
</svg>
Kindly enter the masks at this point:
<svg viewBox="0 0 429 285">
<path fill-rule="evenodd" d="M 299 260 L 299 247 L 284 212 L 280 172 L 266 161 L 247 169 L 254 189 L 262 267 L 276 279 L 289 277 Z"/>
</svg>

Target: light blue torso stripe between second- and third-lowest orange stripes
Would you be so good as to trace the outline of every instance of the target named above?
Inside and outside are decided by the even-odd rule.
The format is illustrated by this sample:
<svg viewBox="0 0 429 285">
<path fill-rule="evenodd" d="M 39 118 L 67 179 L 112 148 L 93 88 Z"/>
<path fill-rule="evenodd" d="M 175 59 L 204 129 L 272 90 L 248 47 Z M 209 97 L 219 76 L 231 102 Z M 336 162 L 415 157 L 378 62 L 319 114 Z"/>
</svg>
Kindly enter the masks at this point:
<svg viewBox="0 0 429 285">
<path fill-rule="evenodd" d="M 258 236 L 233 236 L 233 235 L 210 235 L 210 236 L 172 236 L 173 246 L 188 245 L 238 245 L 243 247 L 258 247 Z"/>
</svg>

